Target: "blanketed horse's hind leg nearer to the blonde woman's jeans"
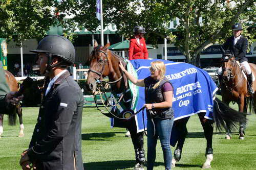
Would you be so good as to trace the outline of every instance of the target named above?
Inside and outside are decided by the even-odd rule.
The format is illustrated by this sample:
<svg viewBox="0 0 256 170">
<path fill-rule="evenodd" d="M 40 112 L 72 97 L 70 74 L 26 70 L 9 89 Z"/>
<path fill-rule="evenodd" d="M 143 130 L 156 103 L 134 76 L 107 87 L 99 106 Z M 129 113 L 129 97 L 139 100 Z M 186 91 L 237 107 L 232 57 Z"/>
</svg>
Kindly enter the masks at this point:
<svg viewBox="0 0 256 170">
<path fill-rule="evenodd" d="M 178 144 L 176 149 L 174 150 L 174 157 L 172 159 L 172 167 L 176 166 L 176 162 L 180 161 L 181 159 L 181 153 L 182 153 L 182 148 L 187 136 L 187 121 L 188 121 L 189 117 L 185 117 L 179 120 L 176 120 L 174 122 L 174 126 L 175 129 L 178 131 L 177 133 L 178 135 Z M 174 129 L 174 128 L 173 128 Z"/>
</svg>

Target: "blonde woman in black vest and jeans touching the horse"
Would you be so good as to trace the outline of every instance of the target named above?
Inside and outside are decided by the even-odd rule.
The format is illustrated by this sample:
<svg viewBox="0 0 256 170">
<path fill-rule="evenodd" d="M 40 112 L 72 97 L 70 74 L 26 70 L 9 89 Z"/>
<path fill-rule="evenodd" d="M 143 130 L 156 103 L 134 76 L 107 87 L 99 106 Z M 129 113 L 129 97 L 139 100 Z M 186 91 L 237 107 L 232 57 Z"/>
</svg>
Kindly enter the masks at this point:
<svg viewBox="0 0 256 170">
<path fill-rule="evenodd" d="M 153 169 L 156 159 L 156 144 L 160 138 L 165 169 L 171 168 L 170 133 L 174 123 L 173 85 L 165 78 L 162 61 L 151 63 L 151 76 L 136 79 L 119 64 L 127 78 L 137 86 L 145 87 L 145 108 L 147 112 L 147 169 Z M 155 124 L 155 125 L 154 125 Z M 154 130 L 155 129 L 155 130 Z M 155 135 L 154 135 L 155 132 Z"/>
</svg>

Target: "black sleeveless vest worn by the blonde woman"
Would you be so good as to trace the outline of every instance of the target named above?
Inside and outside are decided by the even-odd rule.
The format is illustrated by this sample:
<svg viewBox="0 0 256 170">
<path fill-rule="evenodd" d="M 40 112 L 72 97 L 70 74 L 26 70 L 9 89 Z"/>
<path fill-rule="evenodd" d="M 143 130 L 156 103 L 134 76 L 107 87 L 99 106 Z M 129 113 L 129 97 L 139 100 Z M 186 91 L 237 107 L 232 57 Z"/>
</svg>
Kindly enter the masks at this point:
<svg viewBox="0 0 256 170">
<path fill-rule="evenodd" d="M 153 86 L 157 83 L 152 77 L 147 77 L 144 79 L 145 84 L 145 103 L 151 104 L 151 103 L 161 103 L 164 102 L 164 96 L 162 92 L 162 86 L 164 83 L 170 83 L 167 78 L 164 78 L 158 87 L 155 89 Z M 150 111 L 147 111 L 147 117 L 151 116 L 152 118 L 161 118 L 161 119 L 167 119 L 167 118 L 173 118 L 174 117 L 174 111 L 172 107 L 169 108 L 154 108 L 152 109 L 153 114 L 150 114 Z"/>
</svg>

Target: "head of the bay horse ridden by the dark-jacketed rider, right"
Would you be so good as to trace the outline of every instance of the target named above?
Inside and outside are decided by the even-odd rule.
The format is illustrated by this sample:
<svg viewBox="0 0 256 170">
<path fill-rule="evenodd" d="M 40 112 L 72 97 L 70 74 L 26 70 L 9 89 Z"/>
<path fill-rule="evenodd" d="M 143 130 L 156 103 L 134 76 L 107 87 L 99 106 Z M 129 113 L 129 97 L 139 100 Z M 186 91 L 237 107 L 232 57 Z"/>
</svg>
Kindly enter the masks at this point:
<svg viewBox="0 0 256 170">
<path fill-rule="evenodd" d="M 234 60 L 234 55 L 229 51 L 225 51 L 222 55 L 222 77 L 225 81 L 229 81 L 233 76 L 233 69 L 236 61 Z"/>
</svg>

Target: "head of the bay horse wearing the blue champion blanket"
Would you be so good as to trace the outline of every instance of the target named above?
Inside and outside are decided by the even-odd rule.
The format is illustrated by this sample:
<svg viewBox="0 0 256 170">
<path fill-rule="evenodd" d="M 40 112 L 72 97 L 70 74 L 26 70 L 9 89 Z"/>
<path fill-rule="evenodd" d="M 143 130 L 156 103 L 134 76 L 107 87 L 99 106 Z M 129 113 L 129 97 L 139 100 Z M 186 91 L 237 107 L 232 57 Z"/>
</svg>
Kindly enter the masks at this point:
<svg viewBox="0 0 256 170">
<path fill-rule="evenodd" d="M 98 45 L 97 41 L 94 41 L 94 50 L 89 58 L 90 69 L 86 82 L 88 90 L 93 93 L 96 91 L 96 81 L 102 80 L 110 74 L 109 46 L 110 43 L 102 46 Z"/>
</svg>

